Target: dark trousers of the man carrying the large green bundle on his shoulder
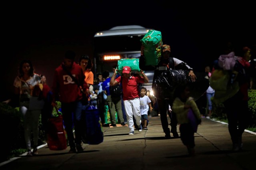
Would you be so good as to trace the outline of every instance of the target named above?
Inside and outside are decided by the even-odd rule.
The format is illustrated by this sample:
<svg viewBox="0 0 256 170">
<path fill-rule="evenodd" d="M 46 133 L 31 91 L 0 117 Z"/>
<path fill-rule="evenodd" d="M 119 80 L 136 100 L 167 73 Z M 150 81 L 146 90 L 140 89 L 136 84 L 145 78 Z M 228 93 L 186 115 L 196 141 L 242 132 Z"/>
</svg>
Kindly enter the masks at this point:
<svg viewBox="0 0 256 170">
<path fill-rule="evenodd" d="M 173 101 L 171 100 L 162 100 L 162 99 L 156 99 L 157 101 L 157 105 L 158 105 L 158 109 L 160 112 L 160 119 L 161 119 L 161 123 L 162 123 L 162 128 L 164 130 L 164 133 L 170 133 L 170 129 L 168 127 L 168 120 L 167 120 L 167 110 L 169 109 L 169 105 L 172 107 L 172 103 Z M 172 131 L 176 131 L 177 130 L 177 118 L 176 118 L 176 114 L 171 112 L 169 114 L 170 119 L 171 119 L 171 128 Z"/>
</svg>

